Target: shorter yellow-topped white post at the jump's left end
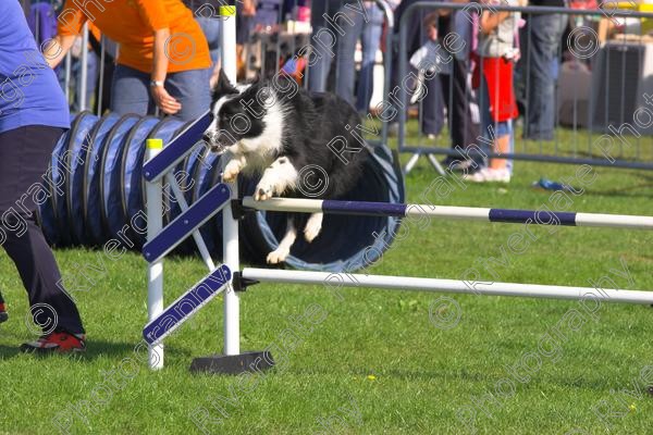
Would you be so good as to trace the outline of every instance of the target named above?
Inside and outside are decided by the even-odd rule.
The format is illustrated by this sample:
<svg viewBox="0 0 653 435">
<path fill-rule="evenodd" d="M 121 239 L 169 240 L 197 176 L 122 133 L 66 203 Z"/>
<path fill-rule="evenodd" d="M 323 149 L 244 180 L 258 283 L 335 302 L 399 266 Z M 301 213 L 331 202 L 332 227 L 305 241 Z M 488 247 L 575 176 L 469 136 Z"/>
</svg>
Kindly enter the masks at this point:
<svg viewBox="0 0 653 435">
<path fill-rule="evenodd" d="M 152 159 L 163 148 L 163 140 L 147 139 L 146 160 Z M 147 239 L 151 240 L 163 228 L 162 181 L 146 183 Z M 147 266 L 147 321 L 151 322 L 163 312 L 163 259 Z M 163 368 L 163 344 L 148 348 L 149 366 Z"/>
</svg>

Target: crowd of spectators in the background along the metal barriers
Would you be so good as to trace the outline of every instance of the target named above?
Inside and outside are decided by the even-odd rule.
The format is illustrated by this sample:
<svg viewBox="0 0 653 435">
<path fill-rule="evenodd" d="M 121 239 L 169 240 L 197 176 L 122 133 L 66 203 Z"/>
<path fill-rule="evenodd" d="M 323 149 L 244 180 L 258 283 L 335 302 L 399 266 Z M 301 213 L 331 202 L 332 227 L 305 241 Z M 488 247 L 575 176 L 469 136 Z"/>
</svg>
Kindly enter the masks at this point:
<svg viewBox="0 0 653 435">
<path fill-rule="evenodd" d="M 439 8 L 441 2 L 438 0 L 432 1 L 432 7 L 411 9 L 416 1 L 385 0 L 383 3 L 394 12 L 395 23 L 406 24 L 406 49 L 410 58 L 406 71 L 415 72 L 415 76 L 421 79 L 414 80 L 417 83 L 410 86 L 412 89 L 423 88 L 424 95 L 417 98 L 417 92 L 409 91 L 410 95 L 404 97 L 407 101 L 417 102 L 412 105 L 418 108 L 420 134 L 432 142 L 442 140 L 441 133 L 446 126 L 449 145 L 454 149 L 465 150 L 483 137 L 486 151 L 506 154 L 514 150 L 515 123 L 519 121 L 525 139 L 552 140 L 556 126 L 556 79 L 564 57 L 564 34 L 568 33 L 569 15 L 480 12 L 472 7 Z M 101 2 L 96 0 L 100 5 Z M 475 3 L 466 0 L 453 2 Z M 106 11 L 100 13 L 98 10 L 97 16 L 88 20 L 79 11 L 78 2 L 69 0 L 63 4 L 33 3 L 28 14 L 59 14 L 54 30 L 44 25 L 42 20 L 40 28 L 37 23 L 34 27 L 40 32 L 41 40 L 51 37 L 52 33 L 57 34 L 60 47 L 50 51 L 59 50 L 61 55 L 49 61 L 52 66 L 57 66 L 63 54 L 72 50 L 72 86 L 78 82 L 74 78 L 78 77 L 76 73 L 83 50 L 75 35 L 79 34 L 84 22 L 89 22 L 89 45 L 84 48 L 87 50 L 89 76 L 85 92 L 87 107 L 93 101 L 98 112 L 101 104 L 118 113 L 158 111 L 192 120 L 207 108 L 209 89 L 220 70 L 221 20 L 217 16 L 220 3 L 223 2 L 141 0 L 111 3 L 111 7 L 107 3 Z M 570 3 L 567 0 L 481 0 L 480 3 L 489 7 L 576 9 L 600 5 L 595 0 Z M 391 76 L 391 89 L 399 86 L 405 78 L 399 77 L 397 64 L 399 26 L 394 27 L 393 46 L 385 47 L 385 35 L 391 30 L 383 9 L 375 1 L 238 0 L 235 4 L 241 79 L 270 77 L 281 70 L 303 82 L 311 91 L 337 94 L 365 116 L 370 110 L 378 110 L 371 100 L 373 90 L 382 86 L 378 79 L 374 80 L 381 51 L 392 51 L 393 54 L 392 70 L 384 72 Z M 69 10 L 74 15 L 67 13 Z M 412 11 L 410 16 L 404 16 L 408 10 Z M 145 22 L 146 26 L 139 27 L 140 22 Z M 291 22 L 305 26 L 289 27 L 287 23 Z M 160 27 L 163 25 L 168 25 L 168 33 L 161 35 Z M 283 36 L 297 36 L 294 33 L 299 32 L 305 32 L 304 39 L 296 38 L 291 48 L 282 45 Z M 444 44 L 446 35 L 453 33 L 465 42 L 464 49 L 452 50 Z M 167 59 L 170 55 L 164 52 L 164 42 L 177 34 L 192 37 L 193 59 L 184 62 Z M 322 41 L 325 47 L 333 47 L 330 50 L 332 55 L 316 57 L 310 65 L 306 59 L 293 62 L 293 57 L 303 46 L 299 41 L 329 39 L 333 35 L 337 39 L 335 42 Z M 251 50 L 251 41 L 261 40 L 262 36 L 272 37 L 266 39 L 258 51 Z M 102 47 L 104 50 L 101 50 Z M 177 46 L 175 50 L 183 53 L 189 48 Z M 104 62 L 100 66 L 102 52 Z M 255 54 L 259 58 L 258 71 L 252 73 L 256 61 L 251 59 L 256 58 Z M 420 59 L 434 55 L 439 61 L 446 59 L 446 62 L 440 62 L 436 73 L 424 74 L 420 71 Z M 63 84 L 63 69 L 58 71 Z M 424 80 L 424 76 L 429 79 Z M 103 86 L 99 86 L 100 82 Z M 82 91 L 72 94 L 75 97 L 71 98 L 71 108 L 77 111 L 81 109 Z M 415 110 L 408 112 L 416 113 Z M 396 120 L 390 124 L 390 130 L 395 133 Z M 460 159 L 457 153 L 452 153 L 444 164 L 464 170 L 471 182 L 510 179 L 510 160 L 488 159 L 482 153 L 465 156 Z"/>
</svg>

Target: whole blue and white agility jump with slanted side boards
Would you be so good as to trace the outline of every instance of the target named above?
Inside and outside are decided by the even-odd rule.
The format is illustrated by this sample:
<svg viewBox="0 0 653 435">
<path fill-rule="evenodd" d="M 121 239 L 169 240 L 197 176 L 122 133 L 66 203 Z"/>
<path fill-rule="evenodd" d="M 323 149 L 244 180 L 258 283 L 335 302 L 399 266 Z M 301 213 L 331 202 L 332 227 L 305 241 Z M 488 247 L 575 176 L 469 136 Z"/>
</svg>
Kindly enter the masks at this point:
<svg viewBox="0 0 653 435">
<path fill-rule="evenodd" d="M 248 211 L 322 212 L 362 216 L 410 217 L 428 215 L 447 220 L 469 220 L 491 223 L 521 223 L 533 225 L 569 225 L 607 228 L 653 229 L 653 216 L 549 212 L 534 210 L 488 209 L 471 207 L 440 207 L 366 201 L 338 201 L 296 198 L 272 198 L 256 201 L 252 197 L 237 197 L 236 183 L 219 183 L 193 204 L 188 206 L 173 171 L 175 165 L 201 146 L 204 126 L 211 121 L 207 112 L 168 147 L 162 141 L 149 139 L 148 160 L 144 165 L 147 179 L 148 241 L 143 254 L 148 261 L 148 324 L 144 338 L 151 346 L 150 366 L 163 366 L 162 340 L 189 319 L 212 298 L 224 293 L 224 353 L 195 359 L 192 370 L 215 373 L 248 371 L 255 361 L 264 361 L 257 369 L 273 365 L 264 352 L 241 352 L 239 348 L 239 291 L 254 283 L 311 284 L 337 287 L 378 287 L 394 290 L 424 290 L 439 293 L 476 294 L 488 296 L 516 296 L 553 299 L 597 299 L 609 302 L 653 303 L 653 291 L 570 287 L 518 283 L 475 283 L 426 277 L 287 271 L 245 268 L 241 270 L 238 251 L 238 219 Z M 165 227 L 162 225 L 163 181 L 172 187 L 182 213 Z M 199 233 L 199 227 L 222 211 L 223 260 L 215 266 Z M 193 235 L 209 274 L 193 288 L 163 308 L 163 259 L 176 246 Z M 152 352 L 157 352 L 155 356 Z"/>
</svg>

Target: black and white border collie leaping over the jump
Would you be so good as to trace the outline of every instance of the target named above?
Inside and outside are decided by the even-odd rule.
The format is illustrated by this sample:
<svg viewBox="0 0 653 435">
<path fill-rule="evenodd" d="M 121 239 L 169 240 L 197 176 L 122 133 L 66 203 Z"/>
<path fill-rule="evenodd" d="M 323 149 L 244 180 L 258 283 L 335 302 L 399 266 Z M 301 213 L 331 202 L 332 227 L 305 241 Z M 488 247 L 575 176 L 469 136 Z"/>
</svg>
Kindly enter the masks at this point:
<svg viewBox="0 0 653 435">
<path fill-rule="evenodd" d="M 214 120 L 205 141 L 225 152 L 222 177 L 260 175 L 255 200 L 275 196 L 337 199 L 358 182 L 369 157 L 357 132 L 356 110 L 333 94 L 308 92 L 292 78 L 233 86 L 224 74 L 213 89 Z M 322 228 L 322 213 L 288 213 L 286 233 L 267 261 L 285 261 L 297 231 L 311 243 Z"/>
</svg>

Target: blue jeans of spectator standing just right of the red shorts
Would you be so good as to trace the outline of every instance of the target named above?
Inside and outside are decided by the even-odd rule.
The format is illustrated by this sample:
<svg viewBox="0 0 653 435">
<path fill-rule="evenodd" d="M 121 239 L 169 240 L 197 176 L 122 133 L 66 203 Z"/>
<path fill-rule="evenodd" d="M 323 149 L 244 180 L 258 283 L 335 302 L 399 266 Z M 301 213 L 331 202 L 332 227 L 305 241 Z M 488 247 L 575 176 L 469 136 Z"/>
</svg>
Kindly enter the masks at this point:
<svg viewBox="0 0 653 435">
<path fill-rule="evenodd" d="M 527 88 L 523 136 L 552 140 L 555 127 L 555 82 L 559 69 L 559 49 L 567 15 L 531 15 L 527 20 L 522 53 Z M 528 37 L 530 34 L 530 38 Z"/>
</svg>

